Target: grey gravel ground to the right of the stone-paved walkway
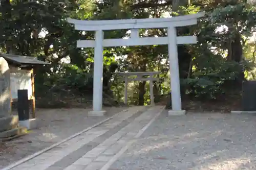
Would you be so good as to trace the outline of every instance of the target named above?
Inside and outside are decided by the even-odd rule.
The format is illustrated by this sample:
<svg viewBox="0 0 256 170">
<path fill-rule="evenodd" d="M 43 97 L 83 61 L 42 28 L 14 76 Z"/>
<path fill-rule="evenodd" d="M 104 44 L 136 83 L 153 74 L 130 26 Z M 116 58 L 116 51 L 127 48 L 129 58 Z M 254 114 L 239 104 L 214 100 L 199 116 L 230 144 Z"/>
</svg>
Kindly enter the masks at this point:
<svg viewBox="0 0 256 170">
<path fill-rule="evenodd" d="M 256 169 L 256 116 L 161 116 L 110 170 Z"/>
</svg>

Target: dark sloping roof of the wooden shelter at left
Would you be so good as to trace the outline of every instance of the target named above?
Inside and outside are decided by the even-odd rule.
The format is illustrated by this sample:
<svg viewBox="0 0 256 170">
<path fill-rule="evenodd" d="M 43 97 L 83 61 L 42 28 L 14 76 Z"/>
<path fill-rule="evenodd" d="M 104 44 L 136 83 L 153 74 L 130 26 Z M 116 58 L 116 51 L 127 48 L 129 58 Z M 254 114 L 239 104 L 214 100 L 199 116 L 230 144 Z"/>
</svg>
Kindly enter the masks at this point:
<svg viewBox="0 0 256 170">
<path fill-rule="evenodd" d="M 14 62 L 16 64 L 25 64 L 25 65 L 44 65 L 50 64 L 48 62 L 44 62 L 38 60 L 36 57 L 29 57 L 29 56 L 20 56 L 14 54 L 0 54 L 0 57 L 4 57 L 7 61 Z"/>
</svg>

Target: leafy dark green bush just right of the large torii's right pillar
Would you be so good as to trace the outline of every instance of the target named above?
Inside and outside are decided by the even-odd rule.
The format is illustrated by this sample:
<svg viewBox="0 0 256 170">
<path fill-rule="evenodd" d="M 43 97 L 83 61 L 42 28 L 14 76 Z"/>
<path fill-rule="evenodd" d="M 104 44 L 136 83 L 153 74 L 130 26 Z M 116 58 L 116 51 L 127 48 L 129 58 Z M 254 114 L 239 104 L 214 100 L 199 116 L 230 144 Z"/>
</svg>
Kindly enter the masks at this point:
<svg viewBox="0 0 256 170">
<path fill-rule="evenodd" d="M 186 94 L 194 98 L 217 99 L 220 94 L 225 93 L 223 84 L 236 79 L 240 70 L 241 66 L 236 62 L 212 62 L 208 67 L 194 68 L 190 78 L 181 80 L 181 86 Z"/>
</svg>

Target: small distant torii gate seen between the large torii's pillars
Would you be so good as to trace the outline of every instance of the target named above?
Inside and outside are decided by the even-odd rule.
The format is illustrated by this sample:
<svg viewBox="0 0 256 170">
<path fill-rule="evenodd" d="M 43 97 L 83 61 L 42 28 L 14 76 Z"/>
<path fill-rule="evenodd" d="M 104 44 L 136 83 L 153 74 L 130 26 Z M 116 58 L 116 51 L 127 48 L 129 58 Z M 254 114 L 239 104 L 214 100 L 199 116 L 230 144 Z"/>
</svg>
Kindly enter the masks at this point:
<svg viewBox="0 0 256 170">
<path fill-rule="evenodd" d="M 148 72 L 117 72 L 118 76 L 124 76 L 122 80 L 124 80 L 124 104 L 127 105 L 127 85 L 131 81 L 150 81 L 150 104 L 153 106 L 154 104 L 154 84 L 153 81 L 158 81 L 159 78 L 153 77 L 154 75 L 160 74 L 160 71 L 148 71 Z M 137 76 L 136 78 L 129 78 L 130 76 Z M 149 76 L 149 77 L 143 77 Z"/>
</svg>

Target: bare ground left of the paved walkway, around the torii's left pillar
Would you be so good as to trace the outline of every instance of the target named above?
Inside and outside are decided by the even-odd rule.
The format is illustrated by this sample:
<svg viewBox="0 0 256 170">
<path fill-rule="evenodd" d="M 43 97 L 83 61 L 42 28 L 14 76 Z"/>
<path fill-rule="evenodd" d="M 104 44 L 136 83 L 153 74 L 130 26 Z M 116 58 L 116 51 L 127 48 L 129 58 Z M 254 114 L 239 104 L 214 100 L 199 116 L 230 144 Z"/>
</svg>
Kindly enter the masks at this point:
<svg viewBox="0 0 256 170">
<path fill-rule="evenodd" d="M 0 169 L 125 109 L 126 107 L 106 107 L 104 110 L 107 115 L 99 117 L 88 117 L 91 109 L 37 109 L 37 129 L 12 141 L 0 142 Z"/>
</svg>

